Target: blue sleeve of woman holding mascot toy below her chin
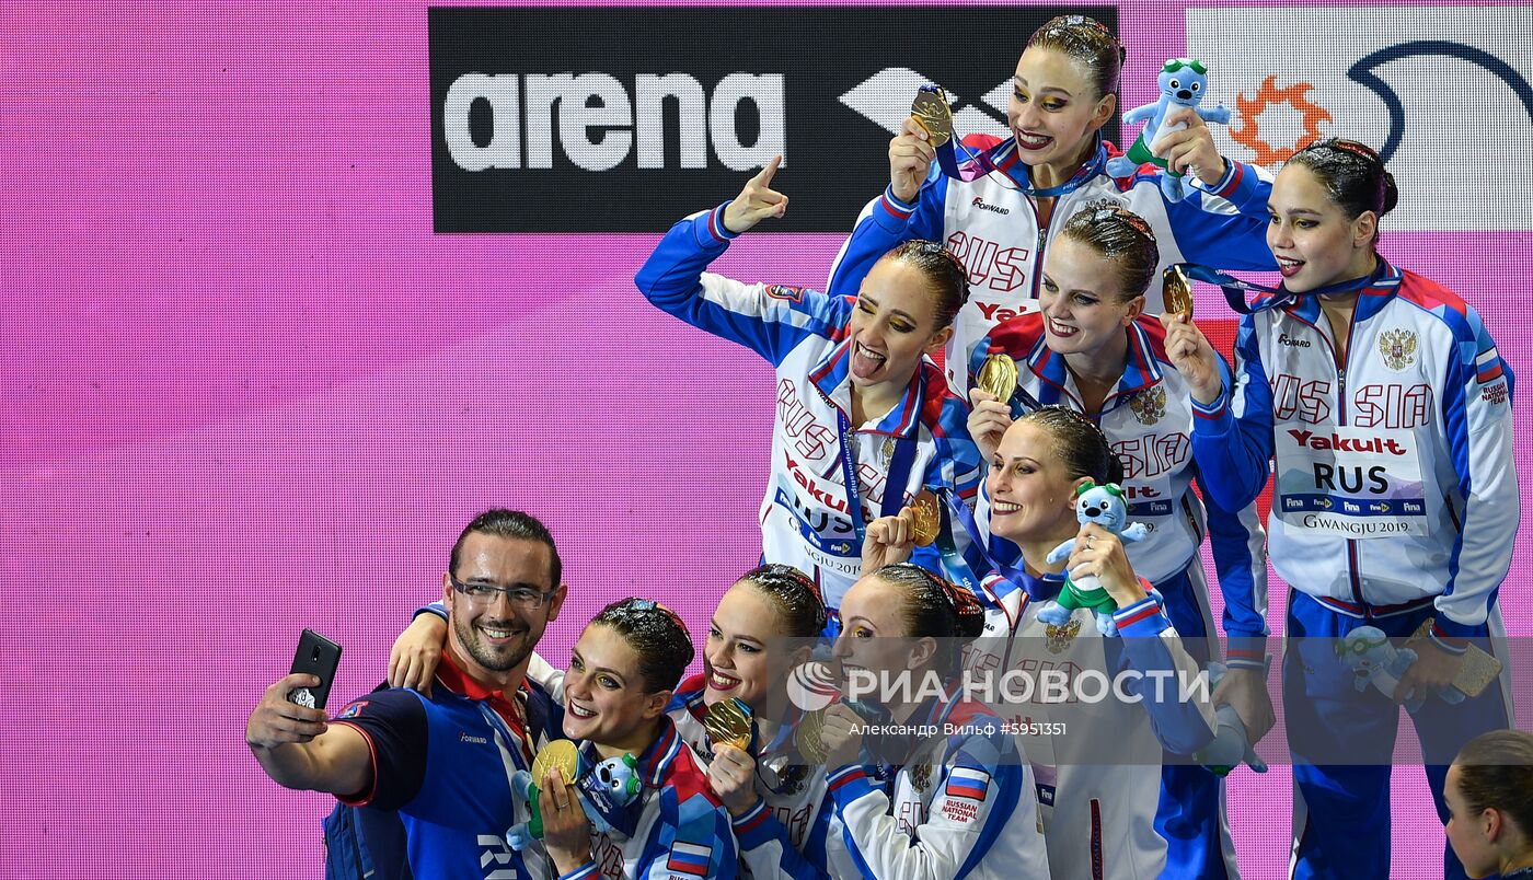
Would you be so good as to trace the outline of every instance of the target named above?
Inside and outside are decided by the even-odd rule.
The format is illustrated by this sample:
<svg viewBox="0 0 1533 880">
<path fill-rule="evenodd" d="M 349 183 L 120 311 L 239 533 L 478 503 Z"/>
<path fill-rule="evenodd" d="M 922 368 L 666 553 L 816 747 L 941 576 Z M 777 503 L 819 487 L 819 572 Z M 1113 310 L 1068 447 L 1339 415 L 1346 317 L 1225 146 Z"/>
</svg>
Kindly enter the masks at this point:
<svg viewBox="0 0 1533 880">
<path fill-rule="evenodd" d="M 1150 584 L 1144 584 L 1145 590 Z M 1214 739 L 1219 722 L 1208 699 L 1182 699 L 1182 684 L 1206 676 L 1197 667 L 1182 638 L 1171 629 L 1160 603 L 1153 595 L 1113 613 L 1122 636 L 1124 661 L 1141 678 L 1128 684 L 1145 710 L 1160 745 L 1174 754 L 1193 754 Z M 1211 694 L 1210 694 L 1211 696 Z"/>
</svg>

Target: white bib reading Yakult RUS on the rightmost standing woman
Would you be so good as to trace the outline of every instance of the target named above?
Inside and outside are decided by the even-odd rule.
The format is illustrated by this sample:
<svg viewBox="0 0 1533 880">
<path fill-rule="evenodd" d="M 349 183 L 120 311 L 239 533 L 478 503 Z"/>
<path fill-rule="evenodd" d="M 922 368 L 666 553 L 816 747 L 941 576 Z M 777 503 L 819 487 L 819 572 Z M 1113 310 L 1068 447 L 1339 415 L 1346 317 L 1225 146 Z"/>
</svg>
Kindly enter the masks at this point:
<svg viewBox="0 0 1533 880">
<path fill-rule="evenodd" d="M 1283 428 L 1274 440 L 1272 509 L 1289 529 L 1355 540 L 1427 534 L 1412 431 L 1315 425 Z"/>
</svg>

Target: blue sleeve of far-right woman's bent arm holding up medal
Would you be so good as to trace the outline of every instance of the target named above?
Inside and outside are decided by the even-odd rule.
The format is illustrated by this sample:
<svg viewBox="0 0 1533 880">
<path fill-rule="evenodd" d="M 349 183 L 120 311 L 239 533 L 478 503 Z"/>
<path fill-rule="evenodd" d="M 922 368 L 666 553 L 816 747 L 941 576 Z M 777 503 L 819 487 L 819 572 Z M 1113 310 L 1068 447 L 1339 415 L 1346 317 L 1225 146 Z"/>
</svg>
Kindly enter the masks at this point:
<svg viewBox="0 0 1533 880">
<path fill-rule="evenodd" d="M 1272 460 L 1272 386 L 1268 385 L 1246 314 L 1236 334 L 1237 379 L 1211 405 L 1193 400 L 1193 457 L 1203 475 L 1206 498 L 1223 511 L 1242 511 L 1266 488 Z"/>
</svg>

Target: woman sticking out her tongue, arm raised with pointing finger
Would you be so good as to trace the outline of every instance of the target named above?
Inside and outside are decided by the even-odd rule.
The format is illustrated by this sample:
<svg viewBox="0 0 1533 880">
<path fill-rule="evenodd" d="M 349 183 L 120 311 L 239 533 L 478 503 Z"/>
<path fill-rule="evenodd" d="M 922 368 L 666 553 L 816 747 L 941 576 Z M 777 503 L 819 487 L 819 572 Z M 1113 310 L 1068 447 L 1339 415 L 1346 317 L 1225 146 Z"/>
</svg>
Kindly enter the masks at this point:
<svg viewBox="0 0 1533 880">
<path fill-rule="evenodd" d="M 969 285 L 958 259 L 927 241 L 885 253 L 855 297 L 704 271 L 736 236 L 783 216 L 788 196 L 771 189 L 779 164 L 671 227 L 635 281 L 656 307 L 776 368 L 762 557 L 808 573 L 834 612 L 857 580 L 865 523 L 900 514 L 921 491 L 973 503 L 980 457 L 967 409 L 927 357 L 952 337 Z M 966 540 L 957 541 L 961 552 Z M 917 561 L 941 570 L 935 547 Z"/>
</svg>

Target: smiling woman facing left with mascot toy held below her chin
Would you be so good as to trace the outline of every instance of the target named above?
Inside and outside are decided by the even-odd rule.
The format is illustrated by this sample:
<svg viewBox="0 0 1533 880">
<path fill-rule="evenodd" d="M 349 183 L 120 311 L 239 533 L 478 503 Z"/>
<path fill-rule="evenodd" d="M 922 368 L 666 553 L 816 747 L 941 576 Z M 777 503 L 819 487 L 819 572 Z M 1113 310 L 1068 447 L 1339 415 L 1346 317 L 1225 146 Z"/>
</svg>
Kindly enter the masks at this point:
<svg viewBox="0 0 1533 880">
<path fill-rule="evenodd" d="M 1021 560 L 984 578 L 986 638 L 966 653 L 964 668 L 970 678 L 1036 679 L 1027 688 L 1007 678 L 1013 684 L 993 705 L 1033 763 L 1056 877 L 1176 874 L 1156 832 L 1162 750 L 1191 756 L 1216 730 L 1206 693 L 1180 699 L 1179 682 L 1199 681 L 1199 665 L 1176 638 L 1159 595 L 1113 532 L 1076 520 L 1078 489 L 1119 481 L 1122 463 L 1101 428 L 1067 406 L 1042 406 L 1013 422 L 986 477 L 990 530 L 1019 547 Z M 869 526 L 865 564 L 908 553 L 908 532 L 900 517 Z M 1050 563 L 1049 553 L 1070 538 L 1070 557 Z M 1062 626 L 1038 619 L 1067 572 L 1101 581 L 1118 604 L 1122 638 L 1102 638 L 1085 609 Z M 1065 693 L 1047 690 L 1046 670 L 1067 670 Z M 1098 675 L 1111 688 L 1093 699 L 1098 690 L 1087 679 Z"/>
</svg>

